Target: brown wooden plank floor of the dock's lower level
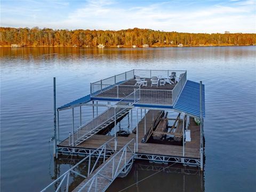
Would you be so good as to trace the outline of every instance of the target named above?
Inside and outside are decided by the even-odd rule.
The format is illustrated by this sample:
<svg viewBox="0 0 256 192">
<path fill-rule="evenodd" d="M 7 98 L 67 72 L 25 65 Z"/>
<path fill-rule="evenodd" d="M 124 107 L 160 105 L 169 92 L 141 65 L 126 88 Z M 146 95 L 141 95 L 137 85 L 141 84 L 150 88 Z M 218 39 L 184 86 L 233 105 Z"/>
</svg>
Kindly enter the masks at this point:
<svg viewBox="0 0 256 192">
<path fill-rule="evenodd" d="M 148 111 L 148 113 L 146 114 L 146 131 L 150 129 L 150 126 L 153 122 L 153 114 L 154 117 L 157 117 L 158 113 L 160 113 L 160 110 Z M 163 145 L 156 143 L 141 143 L 141 140 L 144 137 L 144 122 L 144 118 L 142 118 L 138 124 L 138 153 L 182 157 L 182 146 Z M 200 126 L 194 122 L 194 118 L 192 117 L 190 117 L 190 126 L 188 127 L 188 129 L 190 130 L 191 141 L 186 142 L 185 144 L 185 157 L 199 158 Z M 113 138 L 113 136 L 93 135 L 91 138 L 85 140 L 77 147 L 97 149 L 111 138 Z M 129 137 L 117 137 L 117 150 L 121 149 L 132 138 L 136 139 L 136 134 L 131 133 Z M 68 146 L 68 140 L 60 143 L 60 146 Z"/>
</svg>

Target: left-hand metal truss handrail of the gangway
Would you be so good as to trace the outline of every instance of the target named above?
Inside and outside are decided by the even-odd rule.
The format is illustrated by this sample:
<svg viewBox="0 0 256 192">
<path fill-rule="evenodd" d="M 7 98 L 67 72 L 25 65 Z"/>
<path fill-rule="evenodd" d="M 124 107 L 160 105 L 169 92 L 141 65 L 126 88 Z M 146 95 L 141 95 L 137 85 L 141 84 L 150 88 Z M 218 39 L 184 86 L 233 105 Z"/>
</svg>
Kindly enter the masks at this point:
<svg viewBox="0 0 256 192">
<path fill-rule="evenodd" d="M 58 187 L 57 190 L 56 190 L 56 191 L 58 191 L 59 188 L 60 188 L 60 186 L 62 185 L 63 181 L 66 179 L 67 176 L 68 176 L 68 178 L 67 178 L 67 187 L 68 187 L 69 172 L 76 173 L 77 175 L 86 178 L 85 175 L 82 175 L 82 174 L 80 174 L 80 173 L 77 173 L 76 171 L 74 171 L 74 169 L 75 169 L 78 165 L 80 165 L 81 163 L 83 163 L 86 159 L 91 158 L 91 156 L 92 156 L 93 154 L 95 154 L 98 150 L 101 150 L 101 149 L 103 150 L 103 149 L 105 149 L 105 153 L 106 153 L 106 146 L 108 145 L 108 143 L 109 143 L 110 141 L 112 141 L 112 140 L 114 140 L 114 139 L 115 139 L 115 138 L 111 138 L 110 140 L 108 140 L 107 142 L 105 142 L 102 146 L 100 146 L 99 148 L 93 150 L 93 152 L 92 152 L 90 155 L 88 155 L 88 156 L 86 156 L 85 158 L 83 158 L 83 159 L 82 159 L 81 161 L 79 161 L 76 165 L 74 165 L 74 166 L 71 167 L 68 171 L 66 171 L 65 173 L 63 173 L 59 178 L 57 178 L 57 179 L 55 179 L 53 182 L 51 182 L 47 187 L 45 187 L 43 190 L 41 190 L 41 192 L 46 191 L 47 188 L 51 187 L 54 183 L 56 183 L 56 182 L 59 181 L 61 178 L 63 178 L 63 179 L 61 180 L 60 184 L 59 184 L 59 187 Z M 111 149 L 111 148 L 110 148 L 110 149 Z M 111 150 L 112 150 L 113 153 L 114 153 L 114 150 L 113 150 L 113 149 L 111 149 Z M 99 156 L 100 156 L 100 155 L 101 155 L 101 154 L 99 154 Z M 104 157 L 105 157 L 105 156 L 104 156 Z M 104 161 L 105 161 L 105 159 L 104 159 Z M 89 173 L 90 173 L 90 170 L 89 170 Z"/>
</svg>

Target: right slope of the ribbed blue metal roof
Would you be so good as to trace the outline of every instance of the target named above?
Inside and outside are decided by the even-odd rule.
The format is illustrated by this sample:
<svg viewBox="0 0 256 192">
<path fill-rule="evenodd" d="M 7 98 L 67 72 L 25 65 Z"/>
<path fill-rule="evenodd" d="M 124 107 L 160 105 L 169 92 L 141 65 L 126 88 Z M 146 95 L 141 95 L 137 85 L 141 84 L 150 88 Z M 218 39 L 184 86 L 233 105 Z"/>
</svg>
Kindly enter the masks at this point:
<svg viewBox="0 0 256 192">
<path fill-rule="evenodd" d="M 188 80 L 173 109 L 200 117 L 200 84 Z M 204 85 L 202 85 L 202 112 L 205 118 Z"/>
</svg>

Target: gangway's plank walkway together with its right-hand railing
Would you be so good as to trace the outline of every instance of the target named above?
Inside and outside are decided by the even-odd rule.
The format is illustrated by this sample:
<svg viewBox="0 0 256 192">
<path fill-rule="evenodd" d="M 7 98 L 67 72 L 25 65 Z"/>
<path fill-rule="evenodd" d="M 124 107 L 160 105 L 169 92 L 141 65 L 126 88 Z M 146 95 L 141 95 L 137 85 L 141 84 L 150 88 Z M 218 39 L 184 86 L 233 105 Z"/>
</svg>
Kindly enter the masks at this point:
<svg viewBox="0 0 256 192">
<path fill-rule="evenodd" d="M 130 171 L 135 156 L 135 140 L 126 143 L 122 149 L 111 155 L 97 170 L 82 181 L 73 192 L 105 191 L 120 173 Z"/>
</svg>

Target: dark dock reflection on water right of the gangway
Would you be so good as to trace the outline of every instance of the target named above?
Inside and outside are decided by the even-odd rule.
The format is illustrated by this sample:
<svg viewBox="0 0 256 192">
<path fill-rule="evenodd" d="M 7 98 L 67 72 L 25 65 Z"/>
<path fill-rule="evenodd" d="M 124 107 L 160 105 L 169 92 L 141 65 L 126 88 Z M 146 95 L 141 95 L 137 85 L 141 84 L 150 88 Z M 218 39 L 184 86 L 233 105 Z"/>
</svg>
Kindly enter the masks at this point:
<svg viewBox="0 0 256 192">
<path fill-rule="evenodd" d="M 137 160 L 107 191 L 204 191 L 204 173 L 197 167 L 170 165 Z"/>
</svg>

